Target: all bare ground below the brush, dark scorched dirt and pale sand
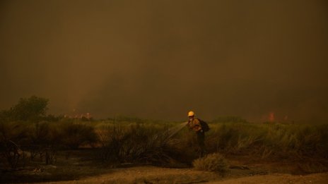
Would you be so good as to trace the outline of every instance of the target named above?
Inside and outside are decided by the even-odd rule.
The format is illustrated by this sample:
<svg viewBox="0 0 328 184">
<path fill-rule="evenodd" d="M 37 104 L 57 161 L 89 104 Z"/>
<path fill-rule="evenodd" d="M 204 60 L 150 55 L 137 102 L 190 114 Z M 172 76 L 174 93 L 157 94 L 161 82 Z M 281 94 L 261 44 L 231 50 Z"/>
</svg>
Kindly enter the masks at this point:
<svg viewBox="0 0 328 184">
<path fill-rule="evenodd" d="M 195 171 L 190 166 L 110 166 L 95 162 L 89 155 L 88 150 L 61 152 L 54 165 L 35 161 L 31 163 L 34 166 L 21 171 L 1 171 L 0 183 L 328 183 L 327 169 L 305 174 L 302 166 L 311 165 L 293 161 L 277 163 L 258 161 L 252 157 L 230 157 L 230 167 L 222 174 Z M 314 166 L 320 168 L 317 164 Z"/>
</svg>

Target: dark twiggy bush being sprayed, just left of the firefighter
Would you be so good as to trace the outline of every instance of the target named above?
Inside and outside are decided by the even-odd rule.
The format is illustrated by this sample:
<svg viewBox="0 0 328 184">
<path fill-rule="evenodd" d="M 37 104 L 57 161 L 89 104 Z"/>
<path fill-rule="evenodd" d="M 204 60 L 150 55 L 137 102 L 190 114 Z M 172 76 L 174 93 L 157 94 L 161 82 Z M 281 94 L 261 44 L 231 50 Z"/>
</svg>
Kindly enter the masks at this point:
<svg viewBox="0 0 328 184">
<path fill-rule="evenodd" d="M 164 164 L 168 157 L 165 127 L 130 124 L 107 125 L 99 132 L 103 161 Z"/>
</svg>

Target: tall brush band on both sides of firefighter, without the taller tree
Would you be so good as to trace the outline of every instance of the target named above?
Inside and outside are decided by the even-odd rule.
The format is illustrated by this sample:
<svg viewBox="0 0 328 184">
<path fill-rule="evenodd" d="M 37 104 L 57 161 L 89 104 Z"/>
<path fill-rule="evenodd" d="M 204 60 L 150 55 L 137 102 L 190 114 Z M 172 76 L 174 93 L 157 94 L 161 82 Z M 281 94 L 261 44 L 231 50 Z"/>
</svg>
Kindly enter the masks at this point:
<svg viewBox="0 0 328 184">
<path fill-rule="evenodd" d="M 230 117 L 212 121 L 209 126 L 211 130 L 205 139 L 209 154 L 278 160 L 328 159 L 328 124 L 247 123 L 242 118 Z M 177 132 L 174 127 L 182 130 Z M 49 148 L 92 145 L 101 148 L 99 157 L 103 161 L 150 164 L 172 159 L 191 164 L 197 159 L 198 149 L 195 133 L 180 123 L 124 117 L 92 122 L 0 122 L 1 162 L 12 159 L 8 142 L 30 152 L 30 156 Z"/>
</svg>

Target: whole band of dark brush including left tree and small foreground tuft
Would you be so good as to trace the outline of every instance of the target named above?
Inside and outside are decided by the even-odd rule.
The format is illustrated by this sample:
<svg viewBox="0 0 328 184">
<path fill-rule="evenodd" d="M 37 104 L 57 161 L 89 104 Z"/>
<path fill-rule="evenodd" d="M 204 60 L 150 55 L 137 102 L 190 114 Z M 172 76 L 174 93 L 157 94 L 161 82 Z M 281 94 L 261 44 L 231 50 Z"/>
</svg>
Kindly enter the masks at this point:
<svg viewBox="0 0 328 184">
<path fill-rule="evenodd" d="M 175 131 L 179 123 L 127 117 L 99 121 L 64 118 L 48 115 L 47 103 L 48 99 L 33 96 L 1 111 L 3 172 L 56 166 L 58 157 L 68 159 L 74 150 L 91 150 L 85 158 L 103 167 L 194 165 L 200 170 L 226 171 L 225 158 L 247 156 L 258 161 L 299 161 L 305 173 L 328 168 L 327 124 L 249 123 L 234 116 L 216 118 L 209 122 L 211 130 L 206 133 L 209 156 L 198 159 L 194 133 L 187 128 Z"/>
</svg>

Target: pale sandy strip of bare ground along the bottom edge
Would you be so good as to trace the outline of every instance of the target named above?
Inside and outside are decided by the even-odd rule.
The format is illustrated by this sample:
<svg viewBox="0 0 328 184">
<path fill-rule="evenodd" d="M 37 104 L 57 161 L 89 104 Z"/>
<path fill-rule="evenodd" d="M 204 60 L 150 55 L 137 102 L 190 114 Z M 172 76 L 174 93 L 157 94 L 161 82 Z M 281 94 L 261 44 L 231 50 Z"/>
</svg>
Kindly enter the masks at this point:
<svg viewBox="0 0 328 184">
<path fill-rule="evenodd" d="M 237 177 L 237 178 L 236 178 Z M 220 176 L 218 173 L 194 171 L 190 168 L 158 168 L 141 166 L 134 168 L 117 168 L 111 173 L 100 176 L 81 178 L 73 181 L 52 183 L 328 183 L 328 173 L 315 173 L 305 176 L 272 173 L 247 176 Z"/>
</svg>

